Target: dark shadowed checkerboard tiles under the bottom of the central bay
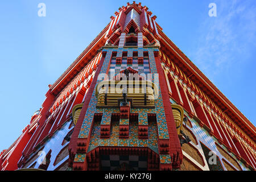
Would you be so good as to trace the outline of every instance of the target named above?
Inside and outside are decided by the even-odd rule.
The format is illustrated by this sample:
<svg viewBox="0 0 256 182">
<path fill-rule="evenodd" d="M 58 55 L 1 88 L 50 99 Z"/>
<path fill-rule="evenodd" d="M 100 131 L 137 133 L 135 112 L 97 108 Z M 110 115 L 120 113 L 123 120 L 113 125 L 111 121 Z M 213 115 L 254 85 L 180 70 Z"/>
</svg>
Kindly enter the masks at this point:
<svg viewBox="0 0 256 182">
<path fill-rule="evenodd" d="M 101 155 L 101 169 L 103 171 L 115 171 L 117 169 L 129 169 L 132 171 L 147 170 L 147 156 L 138 155 Z"/>
</svg>

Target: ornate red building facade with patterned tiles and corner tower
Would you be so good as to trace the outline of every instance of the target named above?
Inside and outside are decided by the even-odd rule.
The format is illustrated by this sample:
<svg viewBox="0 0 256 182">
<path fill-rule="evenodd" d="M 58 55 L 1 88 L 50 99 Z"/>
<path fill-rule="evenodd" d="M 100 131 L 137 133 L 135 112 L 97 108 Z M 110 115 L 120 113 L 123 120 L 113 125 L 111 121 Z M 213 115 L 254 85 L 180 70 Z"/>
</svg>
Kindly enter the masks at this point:
<svg viewBox="0 0 256 182">
<path fill-rule="evenodd" d="M 110 18 L 49 85 L 0 169 L 255 170 L 255 126 L 156 16 L 133 2 Z"/>
</svg>

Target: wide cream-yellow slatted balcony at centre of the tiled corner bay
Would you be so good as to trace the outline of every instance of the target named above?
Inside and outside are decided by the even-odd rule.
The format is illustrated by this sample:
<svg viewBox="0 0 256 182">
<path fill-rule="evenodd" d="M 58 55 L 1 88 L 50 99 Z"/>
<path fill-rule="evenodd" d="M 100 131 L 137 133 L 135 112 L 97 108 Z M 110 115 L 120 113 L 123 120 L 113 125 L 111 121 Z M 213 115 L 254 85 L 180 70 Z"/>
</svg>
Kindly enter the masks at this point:
<svg viewBox="0 0 256 182">
<path fill-rule="evenodd" d="M 127 88 L 127 101 L 133 108 L 155 108 L 158 88 L 151 81 L 102 81 L 96 86 L 97 108 L 119 107 Z"/>
</svg>

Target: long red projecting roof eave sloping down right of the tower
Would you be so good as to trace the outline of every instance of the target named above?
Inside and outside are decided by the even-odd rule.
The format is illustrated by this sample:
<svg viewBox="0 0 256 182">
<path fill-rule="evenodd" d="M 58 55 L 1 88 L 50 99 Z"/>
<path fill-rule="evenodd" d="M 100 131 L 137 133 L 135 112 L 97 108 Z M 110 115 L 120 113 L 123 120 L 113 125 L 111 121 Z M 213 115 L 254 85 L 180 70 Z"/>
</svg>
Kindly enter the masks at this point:
<svg viewBox="0 0 256 182">
<path fill-rule="evenodd" d="M 158 24 L 157 26 L 159 30 L 162 29 Z M 183 64 L 183 67 L 180 66 L 180 69 L 190 76 L 192 81 L 200 82 L 197 86 L 199 86 L 199 88 L 204 92 L 208 93 L 208 97 L 215 101 L 216 105 L 218 105 L 225 114 L 232 118 L 234 122 L 240 126 L 241 129 L 245 130 L 251 139 L 256 142 L 256 127 L 249 121 L 249 119 L 247 119 L 245 115 L 243 115 L 241 111 L 238 110 L 237 107 L 234 106 L 232 102 L 230 102 L 228 98 L 226 98 L 224 94 L 217 89 L 217 87 L 204 75 L 204 73 L 202 73 L 199 68 L 197 68 L 196 65 L 180 51 L 180 49 L 163 33 L 163 31 L 159 31 L 159 35 L 161 39 L 160 42 L 162 42 L 164 46 L 170 50 L 171 54 L 175 55 L 179 60 L 178 64 Z M 166 55 L 168 55 L 167 52 Z"/>
</svg>

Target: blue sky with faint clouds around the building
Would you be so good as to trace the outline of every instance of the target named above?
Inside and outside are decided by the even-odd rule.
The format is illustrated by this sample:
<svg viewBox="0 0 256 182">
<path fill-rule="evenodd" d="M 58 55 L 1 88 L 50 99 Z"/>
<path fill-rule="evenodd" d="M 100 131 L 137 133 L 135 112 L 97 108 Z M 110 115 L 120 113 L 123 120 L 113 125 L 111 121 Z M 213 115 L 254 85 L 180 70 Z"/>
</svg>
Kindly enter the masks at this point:
<svg viewBox="0 0 256 182">
<path fill-rule="evenodd" d="M 0 1 L 0 151 L 30 122 L 48 90 L 127 0 Z M 137 1 L 255 125 L 255 0 Z M 46 4 L 46 17 L 38 4 Z M 132 1 L 130 1 L 132 3 Z M 210 17 L 216 3 L 217 17 Z"/>
</svg>

